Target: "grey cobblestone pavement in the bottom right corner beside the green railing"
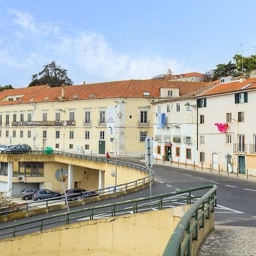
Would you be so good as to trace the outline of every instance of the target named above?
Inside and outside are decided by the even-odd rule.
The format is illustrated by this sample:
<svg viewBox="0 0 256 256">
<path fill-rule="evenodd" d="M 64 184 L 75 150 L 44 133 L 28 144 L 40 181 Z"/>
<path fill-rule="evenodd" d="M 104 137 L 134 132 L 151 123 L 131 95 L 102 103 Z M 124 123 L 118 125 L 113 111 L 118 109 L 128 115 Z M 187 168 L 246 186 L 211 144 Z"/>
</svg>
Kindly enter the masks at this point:
<svg viewBox="0 0 256 256">
<path fill-rule="evenodd" d="M 197 256 L 255 256 L 256 228 L 215 226 Z"/>
</svg>

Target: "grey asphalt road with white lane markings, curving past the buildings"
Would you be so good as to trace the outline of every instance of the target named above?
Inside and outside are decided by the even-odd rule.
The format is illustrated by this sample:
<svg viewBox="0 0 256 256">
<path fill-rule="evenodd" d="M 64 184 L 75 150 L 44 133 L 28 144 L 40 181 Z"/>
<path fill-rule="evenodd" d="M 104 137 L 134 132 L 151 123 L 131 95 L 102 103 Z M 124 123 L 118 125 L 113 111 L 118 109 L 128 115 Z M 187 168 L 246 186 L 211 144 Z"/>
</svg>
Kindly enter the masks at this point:
<svg viewBox="0 0 256 256">
<path fill-rule="evenodd" d="M 126 160 L 127 162 L 138 163 L 138 160 L 136 159 Z M 152 195 L 158 195 L 160 193 L 171 191 L 179 191 L 181 189 L 196 187 L 199 185 L 216 184 L 218 188 L 215 223 L 217 225 L 226 226 L 256 227 L 256 182 L 210 172 L 187 170 L 185 168 L 178 168 L 167 164 L 154 164 L 152 170 L 155 172 L 155 182 L 152 186 Z M 87 204 L 85 206 L 72 208 L 72 210 L 115 203 L 117 201 L 130 200 L 139 197 L 147 197 L 149 195 L 150 189 L 145 188 L 141 191 L 130 193 L 126 196 Z M 65 212 L 65 210 L 32 216 L 26 219 L 9 221 L 5 224 L 1 224 L 1 226 L 13 225 L 62 212 Z M 31 230 L 31 232 L 32 231 L 34 230 Z"/>
</svg>

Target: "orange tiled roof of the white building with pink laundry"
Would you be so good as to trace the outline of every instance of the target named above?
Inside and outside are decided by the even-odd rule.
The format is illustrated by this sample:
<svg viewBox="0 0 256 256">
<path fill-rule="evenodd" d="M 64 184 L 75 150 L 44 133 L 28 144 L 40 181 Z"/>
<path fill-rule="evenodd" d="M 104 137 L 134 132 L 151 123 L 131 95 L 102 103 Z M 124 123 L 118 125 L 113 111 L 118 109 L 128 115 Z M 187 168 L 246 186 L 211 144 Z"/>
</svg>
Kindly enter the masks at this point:
<svg viewBox="0 0 256 256">
<path fill-rule="evenodd" d="M 255 89 L 255 88 L 256 88 L 256 78 L 246 79 L 242 81 L 237 80 L 233 82 L 225 82 L 223 84 L 218 84 L 214 88 L 203 93 L 201 96 L 237 92 L 239 90 L 248 90 L 248 89 Z"/>
</svg>

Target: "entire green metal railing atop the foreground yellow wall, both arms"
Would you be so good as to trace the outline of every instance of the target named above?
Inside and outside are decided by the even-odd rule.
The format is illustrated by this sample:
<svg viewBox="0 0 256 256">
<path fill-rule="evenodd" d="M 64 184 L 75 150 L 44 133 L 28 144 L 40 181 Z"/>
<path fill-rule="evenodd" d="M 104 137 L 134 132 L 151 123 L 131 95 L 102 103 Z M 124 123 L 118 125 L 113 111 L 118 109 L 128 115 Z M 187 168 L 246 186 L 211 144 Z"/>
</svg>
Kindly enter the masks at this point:
<svg viewBox="0 0 256 256">
<path fill-rule="evenodd" d="M 207 188 L 211 189 L 205 193 L 204 189 Z M 77 221 L 80 221 L 81 219 L 93 220 L 96 218 L 116 216 L 117 214 L 138 213 L 156 209 L 161 210 L 166 207 L 174 207 L 175 204 L 179 205 L 181 201 L 185 201 L 187 204 L 191 204 L 192 202 L 192 207 L 180 220 L 182 225 L 177 225 L 178 229 L 176 228 L 177 231 L 175 229 L 175 232 L 164 251 L 164 253 L 167 253 L 164 255 L 176 255 L 177 253 L 174 254 L 174 251 L 181 246 L 181 240 L 184 241 L 182 248 L 187 249 L 188 245 L 190 245 L 188 236 L 192 237 L 193 234 L 196 236 L 196 234 L 198 235 L 198 229 L 204 228 L 204 214 L 206 213 L 206 217 L 210 218 L 210 212 L 214 211 L 214 204 L 216 206 L 216 189 L 216 185 L 203 185 L 200 187 L 184 189 L 182 191 L 173 191 L 151 197 L 143 197 L 141 199 L 72 210 L 70 212 L 54 214 L 53 216 L 38 218 L 36 220 L 3 226 L 0 228 L 0 237 L 7 238 L 36 231 L 42 232 L 52 225 L 68 225 L 77 223 Z M 198 191 L 202 192 L 203 195 L 198 195 Z M 192 192 L 197 193 L 197 196 L 193 196 Z M 194 222 L 189 226 L 189 222 L 192 219 L 194 219 Z M 200 224 L 200 226 L 198 224 Z M 187 232 L 186 236 L 183 236 L 184 232 Z M 174 246 L 170 247 L 170 244 Z M 170 251 L 172 254 L 169 254 Z"/>
</svg>

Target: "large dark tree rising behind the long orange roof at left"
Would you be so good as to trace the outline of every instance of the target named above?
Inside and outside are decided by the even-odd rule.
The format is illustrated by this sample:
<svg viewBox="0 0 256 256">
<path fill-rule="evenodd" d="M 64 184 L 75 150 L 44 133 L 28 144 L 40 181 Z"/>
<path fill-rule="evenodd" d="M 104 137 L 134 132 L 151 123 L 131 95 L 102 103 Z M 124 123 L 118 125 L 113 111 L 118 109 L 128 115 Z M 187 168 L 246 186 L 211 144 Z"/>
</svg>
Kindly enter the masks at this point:
<svg viewBox="0 0 256 256">
<path fill-rule="evenodd" d="M 38 74 L 32 75 L 32 81 L 28 86 L 48 84 L 51 87 L 57 87 L 63 84 L 74 84 L 67 75 L 67 69 L 61 69 L 60 65 L 57 65 L 54 60 L 43 67 L 43 70 Z"/>
</svg>

